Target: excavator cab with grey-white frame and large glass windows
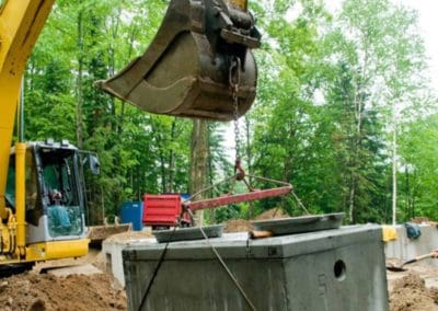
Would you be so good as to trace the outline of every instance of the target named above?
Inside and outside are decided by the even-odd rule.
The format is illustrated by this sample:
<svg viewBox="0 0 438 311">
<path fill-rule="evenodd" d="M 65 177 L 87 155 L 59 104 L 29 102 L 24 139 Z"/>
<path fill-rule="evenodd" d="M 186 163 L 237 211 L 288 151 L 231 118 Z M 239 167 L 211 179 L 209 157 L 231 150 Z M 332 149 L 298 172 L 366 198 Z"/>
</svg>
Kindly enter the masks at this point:
<svg viewBox="0 0 438 311">
<path fill-rule="evenodd" d="M 25 166 L 26 243 L 87 239 L 80 157 L 64 142 L 30 142 Z M 15 205 L 15 152 L 11 151 L 5 197 Z M 78 249 L 77 256 L 87 253 Z"/>
</svg>

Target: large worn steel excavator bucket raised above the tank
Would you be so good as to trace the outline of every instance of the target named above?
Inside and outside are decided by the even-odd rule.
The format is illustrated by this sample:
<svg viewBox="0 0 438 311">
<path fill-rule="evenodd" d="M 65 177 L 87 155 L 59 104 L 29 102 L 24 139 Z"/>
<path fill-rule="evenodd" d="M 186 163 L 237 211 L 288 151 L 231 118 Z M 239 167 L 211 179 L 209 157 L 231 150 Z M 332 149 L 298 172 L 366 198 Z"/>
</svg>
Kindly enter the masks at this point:
<svg viewBox="0 0 438 311">
<path fill-rule="evenodd" d="M 154 114 L 240 117 L 256 92 L 251 49 L 261 35 L 254 24 L 246 0 L 172 0 L 146 53 L 96 84 Z"/>
</svg>

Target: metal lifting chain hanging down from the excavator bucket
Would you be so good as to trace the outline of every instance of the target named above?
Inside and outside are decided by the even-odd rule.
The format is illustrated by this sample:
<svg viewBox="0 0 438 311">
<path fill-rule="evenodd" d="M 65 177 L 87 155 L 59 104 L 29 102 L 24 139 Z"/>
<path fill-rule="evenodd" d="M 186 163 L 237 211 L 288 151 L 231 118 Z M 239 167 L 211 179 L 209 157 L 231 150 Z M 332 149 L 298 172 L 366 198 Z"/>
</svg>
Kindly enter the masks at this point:
<svg viewBox="0 0 438 311">
<path fill-rule="evenodd" d="M 230 88 L 232 92 L 235 161 L 240 161 L 240 128 L 239 128 L 239 84 L 241 78 L 241 61 L 234 56 L 230 65 Z"/>
</svg>

